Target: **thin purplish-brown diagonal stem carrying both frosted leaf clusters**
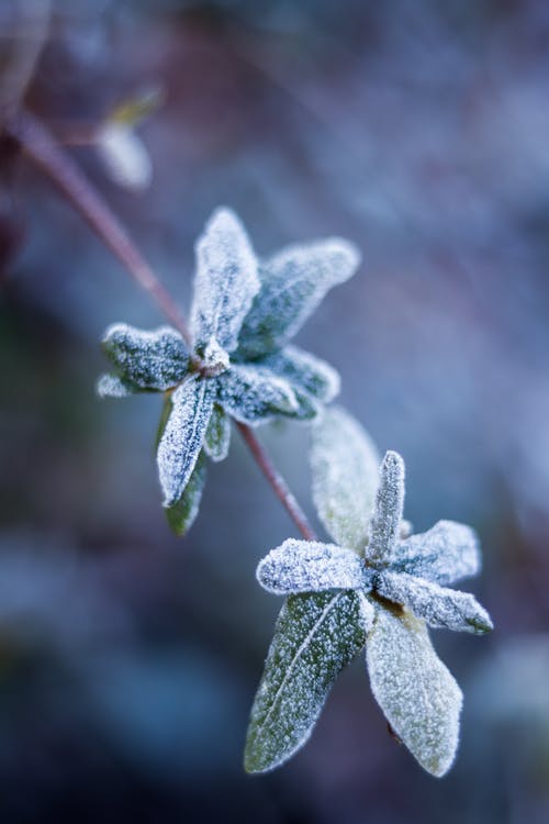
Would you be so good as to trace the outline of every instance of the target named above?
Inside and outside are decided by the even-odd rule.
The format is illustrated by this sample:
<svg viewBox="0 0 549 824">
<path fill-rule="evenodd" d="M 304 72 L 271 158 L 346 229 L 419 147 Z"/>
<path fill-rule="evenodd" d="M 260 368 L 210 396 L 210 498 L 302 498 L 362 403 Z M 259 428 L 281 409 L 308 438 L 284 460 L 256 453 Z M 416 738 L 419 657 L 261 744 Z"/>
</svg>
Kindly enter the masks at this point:
<svg viewBox="0 0 549 824">
<path fill-rule="evenodd" d="M 20 111 L 16 118 L 4 123 L 4 130 L 80 212 L 103 243 L 124 265 L 136 283 L 152 296 L 191 348 L 192 342 L 187 322 L 171 296 L 136 248 L 116 215 L 102 200 L 71 157 L 56 144 L 45 126 L 29 112 Z M 237 426 L 274 494 L 288 511 L 298 530 L 306 541 L 314 541 L 316 536 L 305 513 L 254 432 L 243 423 L 238 423 Z"/>
</svg>

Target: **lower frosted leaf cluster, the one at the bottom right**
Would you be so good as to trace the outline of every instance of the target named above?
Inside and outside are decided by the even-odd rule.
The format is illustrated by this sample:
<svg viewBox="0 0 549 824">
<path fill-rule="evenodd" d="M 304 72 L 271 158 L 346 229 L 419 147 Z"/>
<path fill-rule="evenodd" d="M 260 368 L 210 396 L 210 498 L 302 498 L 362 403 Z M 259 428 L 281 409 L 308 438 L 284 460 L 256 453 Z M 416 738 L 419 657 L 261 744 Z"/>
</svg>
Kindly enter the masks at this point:
<svg viewBox="0 0 549 824">
<path fill-rule="evenodd" d="M 492 628 L 471 594 L 447 586 L 479 571 L 479 543 L 452 521 L 410 535 L 404 463 L 389 452 L 378 466 L 360 426 L 326 410 L 313 428 L 313 497 L 336 543 L 289 539 L 258 566 L 260 584 L 288 599 L 251 710 L 249 772 L 303 746 L 336 676 L 365 646 L 373 695 L 396 736 L 434 776 L 453 761 L 462 694 L 427 627 Z"/>
</svg>

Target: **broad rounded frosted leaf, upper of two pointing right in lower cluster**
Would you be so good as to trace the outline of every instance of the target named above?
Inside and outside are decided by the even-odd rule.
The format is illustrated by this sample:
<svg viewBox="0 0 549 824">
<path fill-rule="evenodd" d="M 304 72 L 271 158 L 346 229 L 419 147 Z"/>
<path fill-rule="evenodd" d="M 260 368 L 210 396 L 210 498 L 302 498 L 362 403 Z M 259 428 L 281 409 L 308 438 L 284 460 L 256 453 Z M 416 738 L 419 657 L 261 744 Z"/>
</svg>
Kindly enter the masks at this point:
<svg viewBox="0 0 549 824">
<path fill-rule="evenodd" d="M 481 568 L 474 530 L 456 521 L 438 521 L 428 532 L 397 544 L 391 569 L 410 572 L 441 586 L 478 575 Z"/>
</svg>

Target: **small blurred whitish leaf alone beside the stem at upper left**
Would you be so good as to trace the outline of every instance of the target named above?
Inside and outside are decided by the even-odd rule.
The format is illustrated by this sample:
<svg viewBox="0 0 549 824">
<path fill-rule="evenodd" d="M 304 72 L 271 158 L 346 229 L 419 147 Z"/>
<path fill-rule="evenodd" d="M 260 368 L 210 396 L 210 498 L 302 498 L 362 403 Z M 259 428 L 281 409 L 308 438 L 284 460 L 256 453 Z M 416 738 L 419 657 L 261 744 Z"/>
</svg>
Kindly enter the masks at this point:
<svg viewBox="0 0 549 824">
<path fill-rule="evenodd" d="M 133 129 L 108 121 L 98 133 L 96 148 L 115 183 L 135 191 L 149 186 L 153 178 L 150 156 Z"/>
</svg>

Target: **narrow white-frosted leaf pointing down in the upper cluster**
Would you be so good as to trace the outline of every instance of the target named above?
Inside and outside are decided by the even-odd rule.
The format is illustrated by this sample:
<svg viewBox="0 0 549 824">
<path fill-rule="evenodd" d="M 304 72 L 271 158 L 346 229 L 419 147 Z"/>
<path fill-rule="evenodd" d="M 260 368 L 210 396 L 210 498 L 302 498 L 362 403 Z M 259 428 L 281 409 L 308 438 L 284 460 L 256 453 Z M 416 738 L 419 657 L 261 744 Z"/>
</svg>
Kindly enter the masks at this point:
<svg viewBox="0 0 549 824">
<path fill-rule="evenodd" d="M 210 423 L 214 392 L 213 380 L 193 376 L 171 396 L 171 412 L 157 452 L 165 506 L 181 498 L 192 475 Z"/>
</svg>

